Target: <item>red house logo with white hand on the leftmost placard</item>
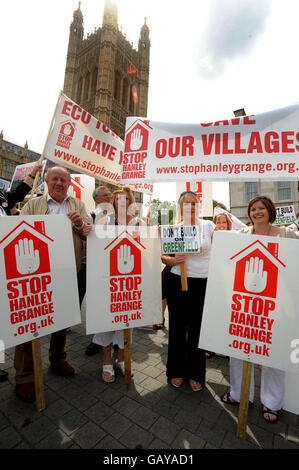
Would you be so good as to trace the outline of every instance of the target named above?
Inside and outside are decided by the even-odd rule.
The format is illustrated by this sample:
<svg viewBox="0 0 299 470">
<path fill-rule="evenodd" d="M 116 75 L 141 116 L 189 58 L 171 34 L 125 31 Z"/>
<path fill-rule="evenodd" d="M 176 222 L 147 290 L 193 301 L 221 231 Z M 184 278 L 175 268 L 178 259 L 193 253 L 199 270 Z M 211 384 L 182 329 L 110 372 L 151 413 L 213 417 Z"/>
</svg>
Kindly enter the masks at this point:
<svg viewBox="0 0 299 470">
<path fill-rule="evenodd" d="M 54 240 L 45 235 L 44 227 L 44 221 L 35 221 L 34 226 L 22 221 L 0 240 L 7 280 L 50 272 L 48 245 Z M 22 246 L 23 253 L 20 252 Z"/>
</svg>

